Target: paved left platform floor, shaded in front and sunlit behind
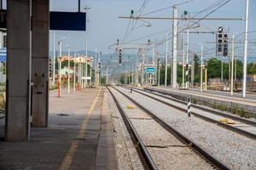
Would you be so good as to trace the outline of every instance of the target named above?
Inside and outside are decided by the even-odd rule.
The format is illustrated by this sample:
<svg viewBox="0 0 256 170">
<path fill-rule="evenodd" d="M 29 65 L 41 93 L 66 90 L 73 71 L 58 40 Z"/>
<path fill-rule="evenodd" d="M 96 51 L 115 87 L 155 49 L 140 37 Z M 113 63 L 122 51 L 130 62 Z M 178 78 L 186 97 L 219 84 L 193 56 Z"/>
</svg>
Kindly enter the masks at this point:
<svg viewBox="0 0 256 170">
<path fill-rule="evenodd" d="M 117 169 L 105 89 L 50 92 L 49 127 L 32 127 L 27 142 L 0 142 L 0 169 Z M 107 94 L 106 94 L 107 95 Z M 90 111 L 91 110 L 91 111 Z M 4 120 L 0 120 L 3 139 Z M 75 147 L 73 147 L 75 146 Z"/>
</svg>

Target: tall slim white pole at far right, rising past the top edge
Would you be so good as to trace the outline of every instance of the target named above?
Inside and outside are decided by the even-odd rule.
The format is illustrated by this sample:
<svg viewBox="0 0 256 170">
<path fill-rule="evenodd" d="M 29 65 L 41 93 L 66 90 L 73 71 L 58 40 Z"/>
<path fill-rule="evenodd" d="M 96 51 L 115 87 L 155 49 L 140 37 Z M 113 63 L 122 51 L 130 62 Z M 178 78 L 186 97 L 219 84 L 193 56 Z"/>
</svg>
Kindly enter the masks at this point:
<svg viewBox="0 0 256 170">
<path fill-rule="evenodd" d="M 243 56 L 243 80 L 242 80 L 242 97 L 246 97 L 247 93 L 247 43 L 248 43 L 248 15 L 249 15 L 249 0 L 246 0 L 246 21 L 244 34 L 244 56 Z"/>
</svg>

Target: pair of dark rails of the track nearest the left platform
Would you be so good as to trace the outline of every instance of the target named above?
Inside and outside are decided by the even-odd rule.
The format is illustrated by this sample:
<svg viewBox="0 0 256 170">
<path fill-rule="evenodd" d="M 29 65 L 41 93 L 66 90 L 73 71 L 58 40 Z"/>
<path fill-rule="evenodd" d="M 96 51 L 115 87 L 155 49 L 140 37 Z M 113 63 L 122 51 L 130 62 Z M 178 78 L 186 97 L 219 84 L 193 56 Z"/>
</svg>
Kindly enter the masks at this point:
<svg viewBox="0 0 256 170">
<path fill-rule="evenodd" d="M 143 107 L 143 105 L 140 105 L 137 103 L 137 101 L 135 101 L 134 99 L 131 99 L 131 97 L 129 97 L 127 94 L 121 92 L 119 89 L 114 88 L 114 87 L 112 87 L 112 89 L 108 88 L 110 94 L 112 94 L 112 96 L 113 96 L 113 100 L 114 100 L 115 104 L 117 105 L 119 111 L 121 112 L 121 115 L 125 121 L 125 125 L 127 126 L 127 129 L 129 130 L 129 133 L 131 134 L 131 137 L 134 140 L 134 143 L 137 144 L 139 147 L 139 150 L 137 150 L 137 151 L 139 152 L 139 155 L 143 156 L 143 159 L 142 159 L 144 161 L 143 164 L 148 164 L 148 166 L 145 166 L 145 167 L 148 167 L 149 169 L 157 169 L 158 168 L 157 166 L 155 166 L 156 164 L 154 163 L 152 156 L 150 156 L 150 154 L 148 152 L 147 145 L 143 144 L 143 139 L 140 139 L 140 137 L 136 131 L 136 128 L 132 125 L 131 120 L 129 120 L 129 117 L 125 114 L 125 111 L 122 108 L 121 104 L 119 103 L 119 100 L 114 96 L 114 94 L 112 92 L 113 89 L 116 90 L 122 96 L 125 96 L 125 99 L 128 99 L 129 101 L 131 101 L 131 103 L 136 105 L 137 108 L 139 108 L 141 111 L 143 111 L 148 116 L 150 116 L 154 120 L 154 122 L 157 122 L 157 124 L 159 124 L 160 127 L 164 128 L 164 130 L 166 130 L 168 133 L 172 134 L 172 136 L 174 136 L 175 139 L 178 139 L 179 142 L 181 142 L 182 144 L 185 144 L 186 147 L 189 147 L 190 150 L 193 150 L 193 152 L 196 153 L 197 156 L 200 156 L 204 161 L 207 161 L 208 163 L 210 163 L 212 165 L 212 167 L 219 168 L 219 169 L 230 169 L 230 167 L 226 166 L 224 164 L 224 162 L 219 161 L 215 156 L 212 156 L 209 152 L 207 152 L 207 150 L 204 150 L 203 148 L 201 148 L 201 146 L 196 144 L 191 139 L 188 139 L 182 133 L 179 133 L 173 127 L 171 127 L 166 122 L 161 120 L 158 116 L 155 116 L 154 113 L 152 113 L 151 111 L 148 111 L 148 109 Z M 164 137 L 162 137 L 162 138 L 164 138 Z"/>
</svg>

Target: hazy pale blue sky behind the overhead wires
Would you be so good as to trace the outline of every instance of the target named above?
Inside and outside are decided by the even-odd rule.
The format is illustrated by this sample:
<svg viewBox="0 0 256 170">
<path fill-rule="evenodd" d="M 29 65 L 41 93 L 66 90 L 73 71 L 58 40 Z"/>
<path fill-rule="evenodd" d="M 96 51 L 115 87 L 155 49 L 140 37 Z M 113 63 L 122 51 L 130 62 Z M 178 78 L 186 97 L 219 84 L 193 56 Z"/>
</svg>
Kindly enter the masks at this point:
<svg viewBox="0 0 256 170">
<path fill-rule="evenodd" d="M 154 11 L 159 8 L 171 7 L 177 3 L 183 3 L 187 0 L 148 0 L 147 6 L 143 10 L 143 14 Z M 81 11 L 84 11 L 84 6 L 90 7 L 87 13 L 89 20 L 87 25 L 88 33 L 88 47 L 90 51 L 94 51 L 97 46 L 98 51 L 102 51 L 102 54 L 112 54 L 113 49 L 109 49 L 108 46 L 119 40 L 122 40 L 125 36 L 125 30 L 128 25 L 129 20 L 119 19 L 119 16 L 130 16 L 131 9 L 135 12 L 142 7 L 144 0 L 81 0 Z M 178 16 L 183 14 L 184 10 L 189 11 L 190 14 L 196 14 L 204 8 L 209 7 L 212 3 L 216 3 L 218 0 L 194 0 L 191 3 L 186 3 L 177 6 Z M 244 18 L 245 16 L 245 3 L 246 0 L 231 0 L 229 3 L 225 4 L 223 7 L 219 8 L 217 11 L 212 13 L 208 17 L 219 17 L 219 18 Z M 78 11 L 78 0 L 50 0 L 50 10 L 51 11 Z M 206 13 L 202 13 L 197 17 L 203 17 Z M 172 17 L 172 8 L 167 8 L 166 10 L 160 11 L 154 14 L 148 14 L 145 16 L 151 17 Z M 249 7 L 249 31 L 256 31 L 256 1 L 250 0 Z M 137 21 L 136 26 L 140 26 L 137 29 L 131 31 L 129 37 L 126 41 L 137 39 L 138 37 L 148 36 L 160 31 L 172 31 L 172 20 L 147 20 L 151 26 L 147 25 L 142 21 Z M 132 20 L 131 23 L 136 21 Z M 179 21 L 179 26 L 184 26 L 187 21 Z M 238 35 L 237 39 L 242 40 L 243 36 L 239 36 L 237 32 L 244 32 L 245 22 L 238 20 L 204 20 L 200 22 L 201 27 L 195 31 L 216 31 L 218 26 L 223 26 L 226 31 L 229 31 L 230 37 L 232 33 Z M 204 27 L 204 28 L 203 28 Z M 50 50 L 53 47 L 53 36 L 52 31 L 50 31 L 49 45 Z M 56 40 L 65 36 L 63 40 L 64 43 L 69 44 L 73 50 L 79 49 L 84 50 L 85 48 L 85 33 L 83 31 L 56 31 Z M 154 37 L 146 37 L 143 40 L 139 40 L 133 43 L 143 43 L 150 39 L 153 42 L 158 42 L 166 37 L 166 32 L 159 34 Z M 256 32 L 249 34 L 250 41 L 256 41 Z M 190 34 L 189 43 L 191 50 L 199 51 L 200 44 L 204 42 L 215 42 L 215 36 L 212 34 Z M 171 43 L 169 43 L 171 44 Z M 206 43 L 206 49 L 214 47 L 215 44 Z M 237 44 L 237 53 L 242 54 L 242 44 Z M 256 53 L 256 47 L 253 48 L 255 44 L 249 44 L 249 54 Z M 66 47 L 67 48 L 67 47 Z M 170 46 L 171 49 L 171 46 Z M 65 50 L 65 47 L 64 47 Z M 66 49 L 67 50 L 67 49 Z M 165 44 L 158 47 L 156 50 L 164 53 Z M 212 52 L 212 51 L 209 51 Z M 135 51 L 127 51 L 125 53 L 136 53 Z M 214 51 L 213 51 L 214 53 Z M 254 55 L 255 56 L 255 55 Z"/>
</svg>

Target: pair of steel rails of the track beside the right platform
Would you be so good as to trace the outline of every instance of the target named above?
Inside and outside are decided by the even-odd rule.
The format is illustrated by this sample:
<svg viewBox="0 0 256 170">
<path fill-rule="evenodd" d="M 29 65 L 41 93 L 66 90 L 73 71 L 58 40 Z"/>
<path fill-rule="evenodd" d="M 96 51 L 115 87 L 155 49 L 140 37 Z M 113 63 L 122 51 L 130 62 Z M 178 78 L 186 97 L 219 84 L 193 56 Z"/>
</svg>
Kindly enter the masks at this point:
<svg viewBox="0 0 256 170">
<path fill-rule="evenodd" d="M 127 88 L 127 87 L 123 87 L 123 88 Z M 127 89 L 130 89 L 130 88 L 127 88 Z M 143 94 L 144 96 L 147 96 L 150 99 L 154 99 L 156 101 L 159 101 L 160 103 L 162 103 L 164 105 L 171 106 L 171 107 L 173 107 L 173 108 L 175 108 L 175 109 L 177 109 L 179 111 L 182 111 L 183 113 L 187 113 L 187 109 L 185 109 L 183 107 L 180 107 L 178 105 L 171 104 L 169 102 L 164 101 L 163 99 L 159 99 L 159 98 L 154 97 L 152 95 L 155 95 L 155 96 L 158 96 L 158 97 L 164 98 L 164 99 L 170 99 L 170 100 L 172 100 L 174 102 L 177 102 L 177 103 L 180 103 L 180 104 L 183 104 L 183 105 L 187 105 L 187 103 L 184 102 L 183 100 L 174 99 L 174 98 L 168 97 L 166 95 L 162 95 L 162 94 L 150 93 L 150 92 L 148 92 L 146 90 L 139 89 L 139 88 L 133 88 L 133 91 L 137 92 L 138 94 Z M 145 93 L 148 93 L 148 94 L 145 94 Z M 230 115 L 224 114 L 222 112 L 212 111 L 212 110 L 209 110 L 207 108 L 201 107 L 199 105 L 191 105 L 191 106 L 196 108 L 196 109 L 198 109 L 198 110 L 205 111 L 205 112 L 210 113 L 210 114 L 214 114 L 214 115 L 217 115 L 217 116 L 227 117 L 227 118 L 230 118 L 230 119 L 235 120 L 237 122 L 243 122 L 243 123 L 245 123 L 247 125 L 250 125 L 253 128 L 256 127 L 256 122 L 245 120 L 245 119 L 239 118 L 237 116 L 230 116 Z M 191 114 L 196 116 L 196 117 L 198 117 L 198 118 L 201 118 L 201 119 L 203 119 L 203 120 L 205 120 L 207 122 L 215 123 L 215 124 L 217 124 L 220 127 L 224 127 L 226 129 L 229 129 L 230 131 L 239 133 L 239 134 L 241 134 L 243 136 L 246 136 L 247 138 L 256 139 L 256 134 L 255 133 L 251 133 L 251 132 L 243 129 L 243 128 L 246 128 L 246 127 L 235 127 L 235 126 L 226 124 L 224 122 L 219 122 L 216 119 L 212 119 L 211 116 L 209 116 L 209 115 L 195 113 L 195 111 L 192 111 Z"/>
</svg>

